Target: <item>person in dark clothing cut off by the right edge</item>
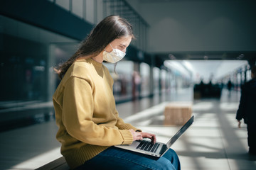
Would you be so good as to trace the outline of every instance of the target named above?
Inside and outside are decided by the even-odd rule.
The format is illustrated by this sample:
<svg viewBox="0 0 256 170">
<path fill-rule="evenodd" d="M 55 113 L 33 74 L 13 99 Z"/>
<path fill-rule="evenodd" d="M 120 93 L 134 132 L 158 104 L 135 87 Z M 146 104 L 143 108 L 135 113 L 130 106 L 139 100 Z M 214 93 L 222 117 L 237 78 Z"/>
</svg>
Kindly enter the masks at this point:
<svg viewBox="0 0 256 170">
<path fill-rule="evenodd" d="M 240 105 L 236 115 L 238 127 L 242 118 L 247 124 L 249 154 L 256 154 L 256 66 L 251 69 L 252 79 L 242 86 Z"/>
</svg>

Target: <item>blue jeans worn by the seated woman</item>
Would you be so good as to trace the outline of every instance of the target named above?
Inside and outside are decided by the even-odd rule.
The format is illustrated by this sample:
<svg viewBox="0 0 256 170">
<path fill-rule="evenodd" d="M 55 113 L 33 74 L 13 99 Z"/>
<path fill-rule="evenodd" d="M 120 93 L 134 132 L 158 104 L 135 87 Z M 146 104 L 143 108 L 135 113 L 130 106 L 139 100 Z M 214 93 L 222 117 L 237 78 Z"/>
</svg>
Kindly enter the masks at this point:
<svg viewBox="0 0 256 170">
<path fill-rule="evenodd" d="M 180 170 L 181 165 L 178 155 L 173 149 L 169 149 L 161 158 L 154 158 L 145 154 L 130 152 L 117 147 L 109 147 L 96 157 L 78 166 L 76 170 L 82 169 L 171 169 Z"/>
</svg>

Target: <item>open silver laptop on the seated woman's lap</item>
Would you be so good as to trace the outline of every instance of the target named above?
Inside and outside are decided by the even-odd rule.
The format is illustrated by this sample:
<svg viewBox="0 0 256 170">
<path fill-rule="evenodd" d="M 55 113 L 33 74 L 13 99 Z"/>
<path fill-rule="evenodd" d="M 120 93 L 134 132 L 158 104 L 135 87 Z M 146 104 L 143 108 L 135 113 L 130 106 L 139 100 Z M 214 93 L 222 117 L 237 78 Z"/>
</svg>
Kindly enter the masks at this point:
<svg viewBox="0 0 256 170">
<path fill-rule="evenodd" d="M 115 145 L 114 147 L 119 147 L 121 149 L 127 149 L 132 152 L 139 152 L 142 154 L 147 154 L 153 157 L 161 157 L 163 156 L 171 145 L 178 140 L 181 135 L 193 124 L 194 116 L 192 116 L 186 123 L 183 125 L 176 134 L 171 137 L 169 142 L 166 144 L 162 142 L 156 142 L 155 144 L 151 142 L 151 140 L 136 140 L 132 142 L 131 145 Z"/>
</svg>

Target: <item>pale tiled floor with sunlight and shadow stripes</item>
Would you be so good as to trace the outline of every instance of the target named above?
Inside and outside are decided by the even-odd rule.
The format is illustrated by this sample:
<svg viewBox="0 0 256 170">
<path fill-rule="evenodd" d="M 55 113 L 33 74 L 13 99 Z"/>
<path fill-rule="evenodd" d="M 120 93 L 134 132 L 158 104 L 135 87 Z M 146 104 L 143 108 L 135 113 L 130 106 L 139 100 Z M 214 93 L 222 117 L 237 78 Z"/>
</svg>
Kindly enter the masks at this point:
<svg viewBox="0 0 256 170">
<path fill-rule="evenodd" d="M 164 106 L 170 101 L 192 101 L 192 90 L 171 91 L 117 105 L 120 117 L 144 131 L 154 132 L 161 142 L 174 135 L 178 127 L 164 126 Z M 240 92 L 223 90 L 218 99 L 193 101 L 195 122 L 173 145 L 188 170 L 256 169 L 256 157 L 247 154 L 246 125 L 237 128 L 235 112 Z M 136 113 L 136 114 L 135 114 Z M 139 121 L 138 121 L 139 120 Z M 36 169 L 60 157 L 55 140 L 54 121 L 0 133 L 0 169 Z"/>
</svg>

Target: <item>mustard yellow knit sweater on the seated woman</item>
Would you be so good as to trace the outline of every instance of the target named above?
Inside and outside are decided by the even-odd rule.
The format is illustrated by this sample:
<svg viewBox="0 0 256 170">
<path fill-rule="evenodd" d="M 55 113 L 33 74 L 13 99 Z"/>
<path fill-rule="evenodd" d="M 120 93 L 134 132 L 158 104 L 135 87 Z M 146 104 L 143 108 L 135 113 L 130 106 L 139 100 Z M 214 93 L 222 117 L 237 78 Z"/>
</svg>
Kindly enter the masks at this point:
<svg viewBox="0 0 256 170">
<path fill-rule="evenodd" d="M 124 123 L 116 110 L 107 68 L 95 60 L 78 60 L 65 73 L 53 95 L 57 140 L 70 168 L 112 145 L 129 145 L 138 130 Z"/>
</svg>

